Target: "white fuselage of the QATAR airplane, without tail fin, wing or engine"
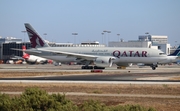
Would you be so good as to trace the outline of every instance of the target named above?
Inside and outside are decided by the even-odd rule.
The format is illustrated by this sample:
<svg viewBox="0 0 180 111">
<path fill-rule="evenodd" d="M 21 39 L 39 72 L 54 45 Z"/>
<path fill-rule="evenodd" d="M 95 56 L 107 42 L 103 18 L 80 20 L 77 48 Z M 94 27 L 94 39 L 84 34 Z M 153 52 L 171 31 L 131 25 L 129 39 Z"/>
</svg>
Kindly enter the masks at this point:
<svg viewBox="0 0 180 111">
<path fill-rule="evenodd" d="M 41 49 L 52 50 L 41 51 Z M 119 48 L 119 47 L 43 47 L 38 48 L 41 53 L 33 53 L 40 57 L 52 59 L 60 62 L 77 61 L 76 56 L 54 53 L 53 51 L 63 51 L 84 55 L 95 55 L 98 57 L 115 57 L 113 63 L 159 63 L 168 59 L 168 56 L 160 50 L 151 48 Z"/>
</svg>

